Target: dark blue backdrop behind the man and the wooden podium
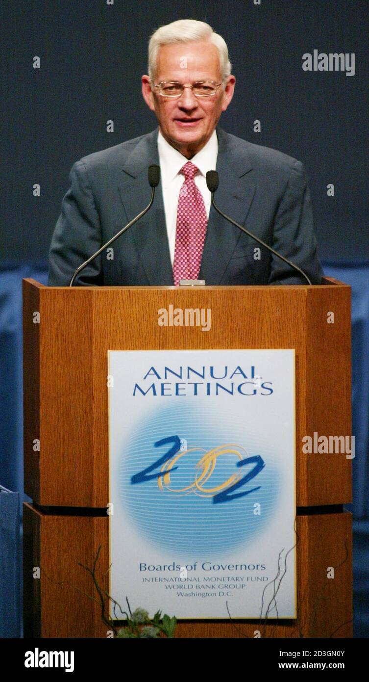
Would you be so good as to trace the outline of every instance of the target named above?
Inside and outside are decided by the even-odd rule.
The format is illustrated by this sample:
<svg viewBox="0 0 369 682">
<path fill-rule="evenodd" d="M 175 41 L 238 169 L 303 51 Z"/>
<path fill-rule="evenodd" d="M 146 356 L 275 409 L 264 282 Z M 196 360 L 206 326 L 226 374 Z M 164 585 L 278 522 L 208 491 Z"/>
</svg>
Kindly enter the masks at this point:
<svg viewBox="0 0 369 682">
<path fill-rule="evenodd" d="M 142 100 L 140 77 L 147 72 L 150 34 L 178 18 L 205 20 L 225 38 L 237 83 L 222 127 L 304 163 L 325 273 L 352 286 L 354 625 L 356 636 L 368 636 L 368 0 L 0 5 L 0 484 L 22 492 L 21 279 L 46 282 L 71 165 L 157 125 Z M 315 49 L 355 53 L 355 76 L 304 72 L 302 55 Z M 106 132 L 108 119 L 114 133 Z M 255 119 L 260 134 L 253 132 Z M 328 183 L 334 197 L 327 196 Z"/>
</svg>

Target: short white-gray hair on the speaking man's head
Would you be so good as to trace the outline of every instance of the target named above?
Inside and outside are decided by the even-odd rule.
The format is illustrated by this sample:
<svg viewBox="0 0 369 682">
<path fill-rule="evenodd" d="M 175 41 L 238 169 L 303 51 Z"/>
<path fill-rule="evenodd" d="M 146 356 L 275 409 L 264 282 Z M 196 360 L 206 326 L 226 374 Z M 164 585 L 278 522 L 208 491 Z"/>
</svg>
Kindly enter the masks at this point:
<svg viewBox="0 0 369 682">
<path fill-rule="evenodd" d="M 157 53 L 161 45 L 173 45 L 174 43 L 199 42 L 208 40 L 218 48 L 219 65 L 222 82 L 231 74 L 231 62 L 228 58 L 228 48 L 225 40 L 212 30 L 212 27 L 204 21 L 195 19 L 180 19 L 171 24 L 161 26 L 150 38 L 148 43 L 148 75 L 154 82 L 157 66 Z"/>
</svg>

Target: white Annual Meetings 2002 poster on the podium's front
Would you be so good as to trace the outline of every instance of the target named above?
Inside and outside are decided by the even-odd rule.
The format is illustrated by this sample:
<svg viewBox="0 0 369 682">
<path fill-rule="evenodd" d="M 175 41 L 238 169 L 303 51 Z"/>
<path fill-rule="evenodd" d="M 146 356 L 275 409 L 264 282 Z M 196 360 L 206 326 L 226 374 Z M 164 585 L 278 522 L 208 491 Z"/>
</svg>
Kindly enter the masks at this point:
<svg viewBox="0 0 369 682">
<path fill-rule="evenodd" d="M 109 351 L 108 379 L 110 595 L 295 618 L 295 351 Z"/>
</svg>

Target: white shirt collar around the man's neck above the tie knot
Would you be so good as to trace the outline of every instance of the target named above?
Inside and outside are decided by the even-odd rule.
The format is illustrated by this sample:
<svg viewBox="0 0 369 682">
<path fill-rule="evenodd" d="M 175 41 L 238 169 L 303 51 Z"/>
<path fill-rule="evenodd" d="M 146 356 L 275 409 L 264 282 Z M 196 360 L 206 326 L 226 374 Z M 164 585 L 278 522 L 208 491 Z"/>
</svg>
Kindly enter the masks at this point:
<svg viewBox="0 0 369 682">
<path fill-rule="evenodd" d="M 186 157 L 183 156 L 178 149 L 174 149 L 172 145 L 167 143 L 159 130 L 157 138 L 157 147 L 159 152 L 161 183 L 163 188 L 166 188 L 170 182 L 178 175 L 182 166 L 187 162 Z M 218 154 L 218 138 L 216 130 L 213 130 L 212 136 L 206 143 L 205 147 L 193 156 L 191 163 L 195 164 L 202 175 L 206 176 L 208 170 L 215 170 L 216 156 Z"/>
</svg>

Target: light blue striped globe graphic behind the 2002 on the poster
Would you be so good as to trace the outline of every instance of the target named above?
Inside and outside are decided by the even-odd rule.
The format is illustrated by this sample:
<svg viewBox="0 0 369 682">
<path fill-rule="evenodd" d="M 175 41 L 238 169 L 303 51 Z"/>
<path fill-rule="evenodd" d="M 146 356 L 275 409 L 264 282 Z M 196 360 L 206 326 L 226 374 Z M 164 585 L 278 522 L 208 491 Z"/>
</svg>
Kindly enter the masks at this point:
<svg viewBox="0 0 369 682">
<path fill-rule="evenodd" d="M 231 424 L 231 428 L 227 424 Z M 169 443 L 155 447 L 157 441 L 170 436 L 173 438 Z M 183 450 L 165 463 L 170 469 L 166 478 L 132 483 L 132 477 L 137 477 L 170 451 L 175 443 L 174 436 L 182 441 Z M 204 477 L 204 467 L 198 463 L 214 448 L 221 450 L 221 454 L 215 462 L 208 464 L 208 475 Z M 233 491 L 225 486 L 235 475 L 240 479 L 255 466 L 238 467 L 237 462 L 256 455 L 263 459 L 263 469 Z M 146 475 L 150 477 L 160 471 L 161 465 Z M 211 559 L 248 544 L 268 524 L 280 490 L 272 444 L 266 446 L 265 439 L 253 432 L 246 414 L 227 414 L 224 406 L 217 409 L 214 402 L 205 408 L 203 402 L 201 411 L 193 401 L 185 400 L 151 411 L 129 434 L 121 453 L 118 475 L 125 513 L 149 543 L 176 552 L 174 559 L 181 556 L 188 559 L 199 553 Z M 228 499 L 232 494 L 254 488 L 258 489 Z M 227 500 L 214 503 L 214 495 L 219 490 L 229 490 Z M 255 503 L 261 505 L 259 515 L 254 513 Z"/>
</svg>

